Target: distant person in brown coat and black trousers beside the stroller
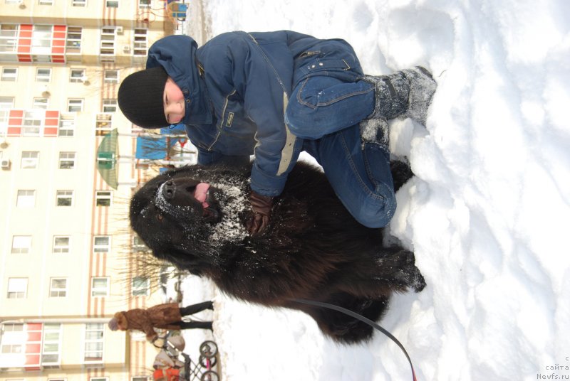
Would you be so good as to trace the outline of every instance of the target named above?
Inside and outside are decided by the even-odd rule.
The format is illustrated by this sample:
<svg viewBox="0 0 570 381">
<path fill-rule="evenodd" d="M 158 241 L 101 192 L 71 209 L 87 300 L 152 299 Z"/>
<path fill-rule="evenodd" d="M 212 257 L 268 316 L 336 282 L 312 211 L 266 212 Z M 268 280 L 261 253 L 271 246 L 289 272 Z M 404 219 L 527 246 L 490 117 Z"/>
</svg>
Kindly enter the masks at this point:
<svg viewBox="0 0 570 381">
<path fill-rule="evenodd" d="M 177 303 L 158 304 L 150 308 L 134 308 L 120 311 L 110 319 L 108 326 L 111 331 L 138 330 L 146 333 L 147 340 L 154 341 L 157 333 L 154 328 L 181 330 L 204 328 L 212 330 L 212 321 L 182 321 L 182 316 L 192 315 L 206 309 L 213 310 L 212 301 L 203 301 L 179 308 Z"/>
</svg>

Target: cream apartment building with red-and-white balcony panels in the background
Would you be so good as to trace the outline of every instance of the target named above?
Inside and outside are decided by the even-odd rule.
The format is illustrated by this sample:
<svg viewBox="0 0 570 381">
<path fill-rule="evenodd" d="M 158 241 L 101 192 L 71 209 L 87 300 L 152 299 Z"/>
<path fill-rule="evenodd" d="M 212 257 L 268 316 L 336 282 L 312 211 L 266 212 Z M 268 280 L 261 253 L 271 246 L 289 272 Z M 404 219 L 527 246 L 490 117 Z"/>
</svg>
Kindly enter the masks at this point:
<svg viewBox="0 0 570 381">
<path fill-rule="evenodd" d="M 177 21 L 160 0 L 0 1 L 0 381 L 145 380 L 155 348 L 106 324 L 164 301 L 134 260 L 152 174 L 116 94 Z"/>
</svg>

